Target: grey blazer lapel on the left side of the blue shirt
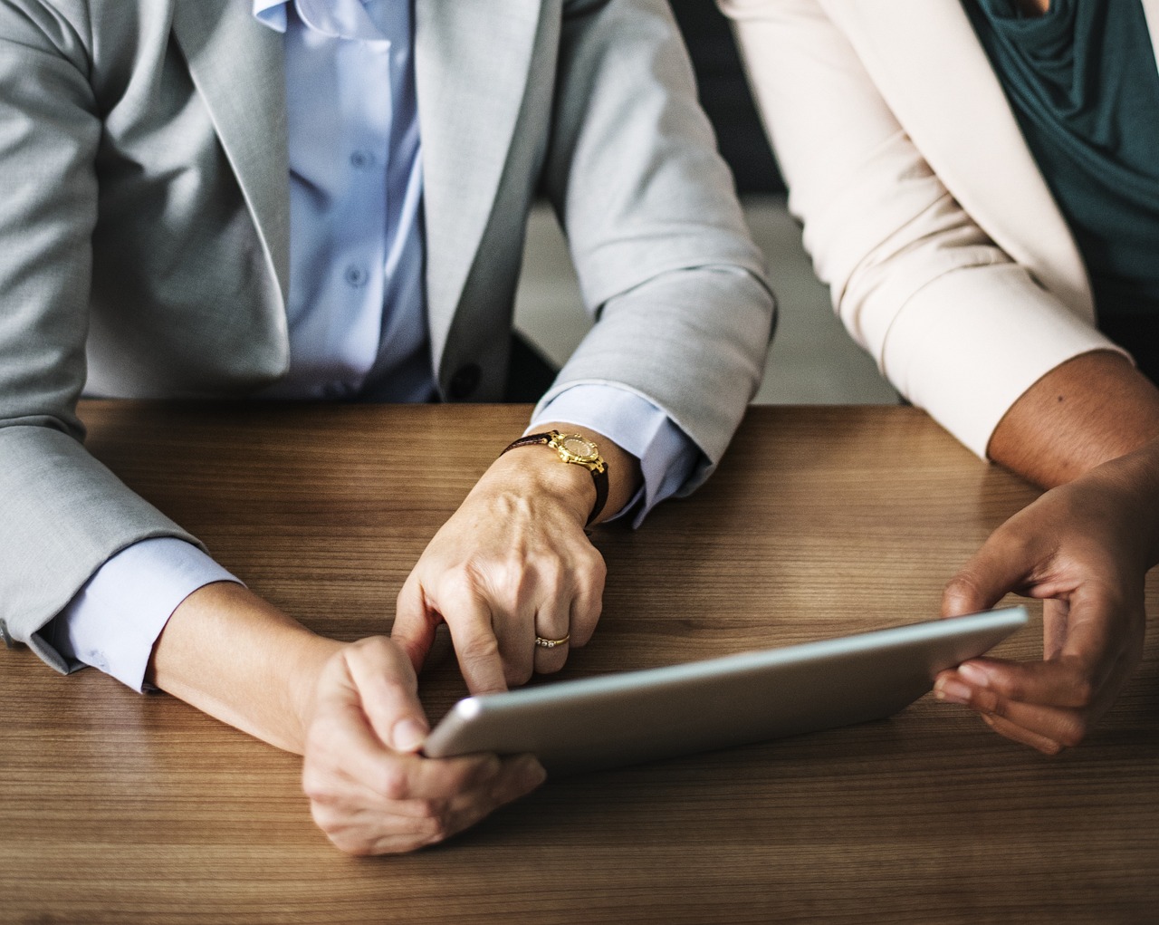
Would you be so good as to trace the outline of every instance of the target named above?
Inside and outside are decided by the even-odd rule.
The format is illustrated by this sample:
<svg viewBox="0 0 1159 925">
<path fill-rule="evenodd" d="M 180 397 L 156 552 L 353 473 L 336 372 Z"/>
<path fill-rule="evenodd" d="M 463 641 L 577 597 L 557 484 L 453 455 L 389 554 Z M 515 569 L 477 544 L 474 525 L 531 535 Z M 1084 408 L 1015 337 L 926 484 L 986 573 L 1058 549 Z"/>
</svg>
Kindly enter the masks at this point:
<svg viewBox="0 0 1159 925">
<path fill-rule="evenodd" d="M 176 0 L 173 31 L 205 101 L 282 294 L 290 281 L 290 166 L 282 36 L 250 3 Z"/>
</svg>

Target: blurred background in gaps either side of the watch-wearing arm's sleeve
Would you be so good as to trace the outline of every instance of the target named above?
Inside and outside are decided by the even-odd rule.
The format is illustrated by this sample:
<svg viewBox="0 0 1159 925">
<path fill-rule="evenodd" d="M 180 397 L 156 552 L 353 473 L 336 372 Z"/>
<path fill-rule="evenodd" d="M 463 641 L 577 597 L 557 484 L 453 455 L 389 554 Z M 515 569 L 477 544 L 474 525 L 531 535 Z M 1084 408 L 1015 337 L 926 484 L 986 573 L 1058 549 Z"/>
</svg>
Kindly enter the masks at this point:
<svg viewBox="0 0 1159 925">
<path fill-rule="evenodd" d="M 801 230 L 785 207 L 777 173 L 749 95 L 727 20 L 710 0 L 671 0 L 697 72 L 700 101 L 732 168 L 753 239 L 765 253 L 779 321 L 760 403 L 894 403 L 897 393 L 833 315 L 829 290 L 817 282 L 801 247 Z M 556 365 L 588 330 L 589 320 L 555 217 L 532 214 L 516 326 Z"/>
</svg>

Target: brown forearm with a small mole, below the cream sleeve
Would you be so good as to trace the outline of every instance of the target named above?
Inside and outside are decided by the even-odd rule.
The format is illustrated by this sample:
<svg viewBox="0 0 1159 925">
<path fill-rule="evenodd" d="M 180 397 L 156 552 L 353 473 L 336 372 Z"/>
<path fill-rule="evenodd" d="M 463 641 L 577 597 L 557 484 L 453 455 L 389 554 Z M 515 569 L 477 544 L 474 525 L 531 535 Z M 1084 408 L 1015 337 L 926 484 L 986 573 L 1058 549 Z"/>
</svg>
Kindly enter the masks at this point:
<svg viewBox="0 0 1159 925">
<path fill-rule="evenodd" d="M 1035 383 L 999 422 L 986 454 L 1050 488 L 1156 438 L 1159 389 L 1125 357 L 1094 351 Z"/>
</svg>

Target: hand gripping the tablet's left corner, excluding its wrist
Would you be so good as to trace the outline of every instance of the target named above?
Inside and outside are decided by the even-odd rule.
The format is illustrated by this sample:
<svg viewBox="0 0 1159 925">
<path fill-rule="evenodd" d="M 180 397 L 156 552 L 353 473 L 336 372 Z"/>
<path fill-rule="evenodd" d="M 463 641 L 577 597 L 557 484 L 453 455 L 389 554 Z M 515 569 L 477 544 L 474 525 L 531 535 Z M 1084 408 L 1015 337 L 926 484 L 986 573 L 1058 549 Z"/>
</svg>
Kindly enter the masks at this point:
<svg viewBox="0 0 1159 925">
<path fill-rule="evenodd" d="M 351 854 L 440 842 L 534 789 L 530 755 L 423 758 L 427 719 L 406 655 L 382 636 L 338 649 L 314 693 L 302 788 L 314 821 Z"/>
</svg>

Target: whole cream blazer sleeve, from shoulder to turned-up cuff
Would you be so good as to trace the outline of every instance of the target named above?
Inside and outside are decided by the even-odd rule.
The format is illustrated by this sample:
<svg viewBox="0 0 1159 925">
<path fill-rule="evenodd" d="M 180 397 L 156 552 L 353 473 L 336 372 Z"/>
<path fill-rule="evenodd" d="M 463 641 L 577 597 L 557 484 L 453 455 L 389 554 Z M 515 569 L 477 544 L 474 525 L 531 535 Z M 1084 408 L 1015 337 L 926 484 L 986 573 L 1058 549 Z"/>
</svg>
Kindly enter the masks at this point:
<svg viewBox="0 0 1159 925">
<path fill-rule="evenodd" d="M 985 456 L 1034 383 L 1079 354 L 1118 349 L 967 214 L 821 3 L 720 7 L 735 20 L 817 276 L 909 401 Z"/>
</svg>

